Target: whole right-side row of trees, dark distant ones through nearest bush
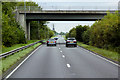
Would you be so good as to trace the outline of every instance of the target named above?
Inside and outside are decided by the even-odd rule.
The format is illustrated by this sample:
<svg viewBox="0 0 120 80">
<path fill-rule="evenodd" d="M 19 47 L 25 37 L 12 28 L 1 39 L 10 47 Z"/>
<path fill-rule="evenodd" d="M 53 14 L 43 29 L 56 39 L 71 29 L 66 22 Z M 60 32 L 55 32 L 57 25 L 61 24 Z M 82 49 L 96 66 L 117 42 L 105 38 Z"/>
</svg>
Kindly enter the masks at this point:
<svg viewBox="0 0 120 80">
<path fill-rule="evenodd" d="M 98 48 L 120 53 L 120 21 L 119 13 L 107 12 L 103 19 L 96 21 L 91 27 L 76 26 L 66 37 L 75 37 L 78 41 Z"/>
</svg>

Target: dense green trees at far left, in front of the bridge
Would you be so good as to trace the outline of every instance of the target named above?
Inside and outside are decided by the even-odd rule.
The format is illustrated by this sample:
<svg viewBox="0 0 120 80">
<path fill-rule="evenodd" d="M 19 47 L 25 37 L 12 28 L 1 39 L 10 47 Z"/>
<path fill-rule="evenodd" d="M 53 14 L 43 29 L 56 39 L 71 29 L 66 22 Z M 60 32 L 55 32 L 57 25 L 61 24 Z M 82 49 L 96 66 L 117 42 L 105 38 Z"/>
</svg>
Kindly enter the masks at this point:
<svg viewBox="0 0 120 80">
<path fill-rule="evenodd" d="M 25 34 L 21 26 L 16 22 L 13 14 L 15 2 L 2 3 L 2 44 L 12 46 L 17 43 L 25 43 Z"/>
</svg>

